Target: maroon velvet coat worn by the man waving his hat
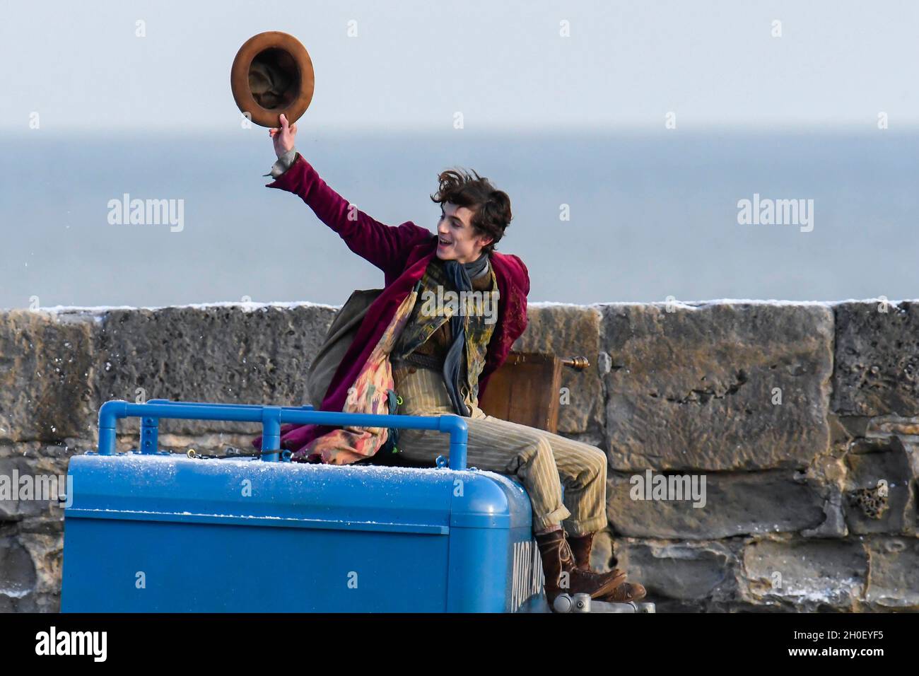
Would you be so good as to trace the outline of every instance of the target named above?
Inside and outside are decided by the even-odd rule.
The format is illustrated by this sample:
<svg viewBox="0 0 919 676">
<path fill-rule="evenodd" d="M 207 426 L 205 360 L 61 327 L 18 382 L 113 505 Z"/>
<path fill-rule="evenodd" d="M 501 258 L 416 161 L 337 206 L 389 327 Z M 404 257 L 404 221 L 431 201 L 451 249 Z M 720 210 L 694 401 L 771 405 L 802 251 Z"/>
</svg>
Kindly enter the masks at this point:
<svg viewBox="0 0 919 676">
<path fill-rule="evenodd" d="M 341 411 L 348 388 L 354 384 L 383 331 L 389 326 L 392 315 L 415 282 L 425 274 L 431 258 L 437 256 L 437 235 L 411 221 L 398 226 L 385 225 L 357 209 L 353 211 L 354 220 L 349 220 L 348 201 L 329 188 L 299 154 L 290 168 L 278 180 L 268 183 L 267 188 L 299 195 L 323 223 L 345 240 L 349 249 L 383 271 L 383 292 L 370 305 L 354 342 L 332 377 L 322 404 L 317 407 L 323 411 Z M 485 366 L 479 376 L 480 399 L 489 377 L 504 363 L 514 341 L 527 327 L 527 266 L 512 254 L 497 251 L 492 252 L 491 263 L 498 282 L 498 317 L 488 343 Z M 281 429 L 281 448 L 299 451 L 330 430 L 333 428 L 323 425 L 285 425 Z M 256 447 L 260 443 L 261 437 L 253 441 Z"/>
</svg>

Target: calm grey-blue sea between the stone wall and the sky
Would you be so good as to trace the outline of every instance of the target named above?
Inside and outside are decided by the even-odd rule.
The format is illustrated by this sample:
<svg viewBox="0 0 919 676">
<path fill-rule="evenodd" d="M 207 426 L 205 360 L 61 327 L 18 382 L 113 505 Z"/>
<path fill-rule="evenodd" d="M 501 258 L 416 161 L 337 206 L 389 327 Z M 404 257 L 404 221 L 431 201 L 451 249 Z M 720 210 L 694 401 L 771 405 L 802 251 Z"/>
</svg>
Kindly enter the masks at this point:
<svg viewBox="0 0 919 676">
<path fill-rule="evenodd" d="M 382 284 L 303 202 L 264 187 L 263 130 L 2 147 L 0 307 L 341 304 Z M 298 148 L 383 223 L 433 230 L 448 166 L 491 178 L 514 212 L 498 250 L 527 263 L 531 302 L 919 298 L 916 133 L 304 131 Z M 181 201 L 181 231 L 109 223 L 125 193 Z M 810 225 L 738 223 L 754 194 L 812 201 Z"/>
</svg>

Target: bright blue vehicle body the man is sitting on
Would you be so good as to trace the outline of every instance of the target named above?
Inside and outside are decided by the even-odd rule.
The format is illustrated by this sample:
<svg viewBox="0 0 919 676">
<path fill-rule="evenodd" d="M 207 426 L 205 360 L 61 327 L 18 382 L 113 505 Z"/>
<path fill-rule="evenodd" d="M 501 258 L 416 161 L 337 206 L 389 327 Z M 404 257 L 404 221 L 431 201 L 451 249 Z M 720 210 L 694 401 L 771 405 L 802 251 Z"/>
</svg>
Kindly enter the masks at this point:
<svg viewBox="0 0 919 676">
<path fill-rule="evenodd" d="M 204 410 L 182 406 L 189 418 Z M 156 439 L 156 420 L 143 419 L 142 439 Z M 504 475 L 157 451 L 71 459 L 62 612 L 494 613 L 539 603 L 529 499 Z"/>
</svg>

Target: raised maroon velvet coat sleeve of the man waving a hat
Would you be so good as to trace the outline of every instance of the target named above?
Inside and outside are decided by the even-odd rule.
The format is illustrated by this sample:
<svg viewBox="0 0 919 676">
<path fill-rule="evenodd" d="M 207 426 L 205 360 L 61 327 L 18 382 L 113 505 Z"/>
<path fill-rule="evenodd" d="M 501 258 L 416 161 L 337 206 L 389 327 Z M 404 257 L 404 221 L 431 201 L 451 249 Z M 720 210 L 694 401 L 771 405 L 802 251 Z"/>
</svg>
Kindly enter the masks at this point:
<svg viewBox="0 0 919 676">
<path fill-rule="evenodd" d="M 299 153 L 293 165 L 277 180 L 267 183 L 267 188 L 287 190 L 298 195 L 320 221 L 345 240 L 349 249 L 380 268 L 387 279 L 403 271 L 414 246 L 436 236 L 411 221 L 395 226 L 371 218 L 329 188 Z"/>
</svg>

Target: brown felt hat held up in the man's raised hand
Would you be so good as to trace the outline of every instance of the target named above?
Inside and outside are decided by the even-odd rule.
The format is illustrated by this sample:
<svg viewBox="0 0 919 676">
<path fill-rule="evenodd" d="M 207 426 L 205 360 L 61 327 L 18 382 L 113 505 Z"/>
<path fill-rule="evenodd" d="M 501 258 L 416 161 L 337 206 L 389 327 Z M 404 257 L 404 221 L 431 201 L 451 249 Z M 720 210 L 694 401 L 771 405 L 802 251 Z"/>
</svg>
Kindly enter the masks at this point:
<svg viewBox="0 0 919 676">
<path fill-rule="evenodd" d="M 236 105 L 262 127 L 279 127 L 281 113 L 297 121 L 310 107 L 313 82 L 310 54 L 279 30 L 246 40 L 230 70 Z"/>
</svg>

